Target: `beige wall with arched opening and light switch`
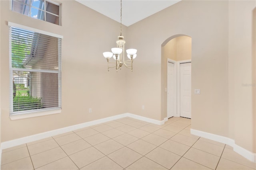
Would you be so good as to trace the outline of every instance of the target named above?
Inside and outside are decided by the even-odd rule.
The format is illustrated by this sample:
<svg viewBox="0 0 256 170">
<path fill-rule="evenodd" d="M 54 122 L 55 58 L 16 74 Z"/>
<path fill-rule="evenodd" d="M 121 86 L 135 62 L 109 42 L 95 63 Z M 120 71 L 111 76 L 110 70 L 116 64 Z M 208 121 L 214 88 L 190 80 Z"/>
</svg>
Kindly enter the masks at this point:
<svg viewBox="0 0 256 170">
<path fill-rule="evenodd" d="M 128 99 L 128 112 L 159 120 L 166 117 L 167 61 L 161 45 L 187 35 L 192 38 L 192 89 L 201 89 L 200 95 L 192 94 L 192 128 L 228 136 L 227 9 L 228 1 L 181 1 L 128 27 L 129 41 L 141 56 L 136 60 L 138 74 L 128 75 L 128 86 L 134 90 L 130 95 L 136 100 Z M 144 100 L 146 111 L 140 106 Z"/>
</svg>

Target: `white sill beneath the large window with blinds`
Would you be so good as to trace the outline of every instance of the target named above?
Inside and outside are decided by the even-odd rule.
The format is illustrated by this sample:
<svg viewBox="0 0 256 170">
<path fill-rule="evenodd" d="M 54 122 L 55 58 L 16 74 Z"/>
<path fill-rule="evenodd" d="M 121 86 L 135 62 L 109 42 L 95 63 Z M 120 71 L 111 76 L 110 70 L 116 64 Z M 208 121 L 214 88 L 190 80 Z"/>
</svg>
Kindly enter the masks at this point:
<svg viewBox="0 0 256 170">
<path fill-rule="evenodd" d="M 30 118 L 30 117 L 53 115 L 53 114 L 57 114 L 57 113 L 60 113 L 60 112 L 61 112 L 61 109 L 55 109 L 55 110 L 48 110 L 48 111 L 40 111 L 40 112 L 36 112 L 36 113 L 10 115 L 10 119 L 11 120 L 26 119 L 26 118 Z"/>
</svg>

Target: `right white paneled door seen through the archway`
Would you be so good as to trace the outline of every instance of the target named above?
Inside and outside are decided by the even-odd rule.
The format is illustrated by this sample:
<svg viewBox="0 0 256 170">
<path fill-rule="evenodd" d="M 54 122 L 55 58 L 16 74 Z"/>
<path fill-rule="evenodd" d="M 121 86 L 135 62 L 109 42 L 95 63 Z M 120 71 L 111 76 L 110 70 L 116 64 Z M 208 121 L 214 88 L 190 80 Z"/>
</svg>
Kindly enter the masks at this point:
<svg viewBox="0 0 256 170">
<path fill-rule="evenodd" d="M 180 116 L 191 118 L 191 63 L 180 64 Z"/>
</svg>

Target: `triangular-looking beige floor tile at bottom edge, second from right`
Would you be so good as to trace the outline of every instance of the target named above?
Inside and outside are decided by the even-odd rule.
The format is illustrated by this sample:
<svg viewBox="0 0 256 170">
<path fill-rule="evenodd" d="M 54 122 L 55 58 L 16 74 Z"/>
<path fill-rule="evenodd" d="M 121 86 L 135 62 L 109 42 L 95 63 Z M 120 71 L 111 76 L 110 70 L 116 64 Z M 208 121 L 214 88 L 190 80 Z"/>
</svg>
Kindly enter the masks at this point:
<svg viewBox="0 0 256 170">
<path fill-rule="evenodd" d="M 181 158 L 171 170 L 211 170 L 206 166 L 200 165 L 196 162 L 188 160 L 186 158 Z"/>
</svg>

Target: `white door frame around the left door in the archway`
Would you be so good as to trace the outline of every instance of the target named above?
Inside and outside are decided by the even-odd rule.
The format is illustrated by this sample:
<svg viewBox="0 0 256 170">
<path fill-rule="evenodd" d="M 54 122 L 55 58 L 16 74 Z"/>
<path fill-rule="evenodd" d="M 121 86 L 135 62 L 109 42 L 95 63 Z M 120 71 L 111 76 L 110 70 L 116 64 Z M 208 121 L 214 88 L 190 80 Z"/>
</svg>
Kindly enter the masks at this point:
<svg viewBox="0 0 256 170">
<path fill-rule="evenodd" d="M 169 102 L 169 100 L 170 100 L 170 96 L 168 95 L 168 91 L 169 91 L 169 89 L 168 89 L 168 80 L 169 80 L 169 78 L 168 78 L 168 69 L 170 69 L 169 67 L 168 67 L 168 63 L 173 63 L 174 64 L 174 72 L 173 72 L 173 74 L 174 74 L 174 117 L 178 117 L 177 116 L 177 61 L 174 61 L 174 60 L 172 60 L 172 59 L 167 59 L 167 112 L 166 112 L 166 117 L 168 117 L 168 109 L 170 109 L 169 107 L 168 107 L 168 102 Z"/>
</svg>

